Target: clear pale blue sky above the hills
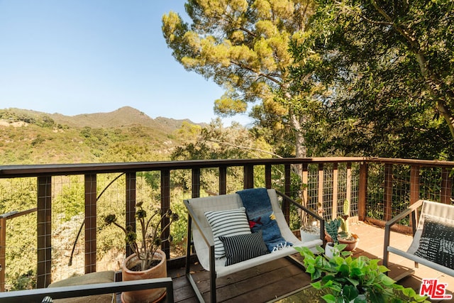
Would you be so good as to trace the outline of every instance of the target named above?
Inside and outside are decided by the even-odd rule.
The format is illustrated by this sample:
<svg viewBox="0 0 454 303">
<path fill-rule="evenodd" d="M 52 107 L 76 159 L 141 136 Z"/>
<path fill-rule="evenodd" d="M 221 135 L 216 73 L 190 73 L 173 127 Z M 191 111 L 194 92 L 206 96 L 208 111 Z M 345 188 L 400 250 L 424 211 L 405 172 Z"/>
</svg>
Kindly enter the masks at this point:
<svg viewBox="0 0 454 303">
<path fill-rule="evenodd" d="M 187 18 L 184 2 L 0 0 L 0 109 L 73 116 L 132 106 L 208 123 L 221 87 L 184 70 L 161 31 L 164 13 Z"/>
</svg>

